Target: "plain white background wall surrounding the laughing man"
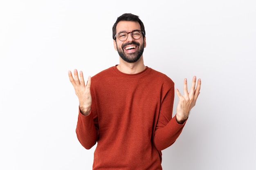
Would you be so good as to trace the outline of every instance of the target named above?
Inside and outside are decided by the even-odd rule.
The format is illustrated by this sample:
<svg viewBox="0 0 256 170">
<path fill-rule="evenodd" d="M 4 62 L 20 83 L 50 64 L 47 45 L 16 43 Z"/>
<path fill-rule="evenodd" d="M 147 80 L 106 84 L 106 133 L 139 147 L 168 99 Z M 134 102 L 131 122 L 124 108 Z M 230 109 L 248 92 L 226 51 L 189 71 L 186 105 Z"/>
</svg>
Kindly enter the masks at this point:
<svg viewBox="0 0 256 170">
<path fill-rule="evenodd" d="M 0 169 L 90 170 L 76 138 L 78 99 L 67 71 L 85 77 L 119 63 L 112 25 L 123 13 L 146 29 L 145 65 L 201 93 L 164 170 L 256 169 L 254 0 L 1 0 Z M 177 106 L 175 96 L 174 113 Z"/>
</svg>

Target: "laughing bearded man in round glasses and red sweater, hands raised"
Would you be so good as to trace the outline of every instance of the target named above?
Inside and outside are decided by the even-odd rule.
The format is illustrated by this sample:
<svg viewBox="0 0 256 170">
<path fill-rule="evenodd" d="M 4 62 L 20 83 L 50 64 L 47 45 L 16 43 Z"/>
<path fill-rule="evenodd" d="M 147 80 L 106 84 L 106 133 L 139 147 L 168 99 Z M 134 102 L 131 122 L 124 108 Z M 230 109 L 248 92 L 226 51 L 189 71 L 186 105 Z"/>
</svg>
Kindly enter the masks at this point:
<svg viewBox="0 0 256 170">
<path fill-rule="evenodd" d="M 184 79 L 184 96 L 172 117 L 174 83 L 166 75 L 144 65 L 144 24 L 125 13 L 113 26 L 119 64 L 93 77 L 87 84 L 80 71 L 68 72 L 79 99 L 77 137 L 86 149 L 97 142 L 93 170 L 162 170 L 161 150 L 171 146 L 195 106 L 201 80 L 191 90 Z"/>
</svg>

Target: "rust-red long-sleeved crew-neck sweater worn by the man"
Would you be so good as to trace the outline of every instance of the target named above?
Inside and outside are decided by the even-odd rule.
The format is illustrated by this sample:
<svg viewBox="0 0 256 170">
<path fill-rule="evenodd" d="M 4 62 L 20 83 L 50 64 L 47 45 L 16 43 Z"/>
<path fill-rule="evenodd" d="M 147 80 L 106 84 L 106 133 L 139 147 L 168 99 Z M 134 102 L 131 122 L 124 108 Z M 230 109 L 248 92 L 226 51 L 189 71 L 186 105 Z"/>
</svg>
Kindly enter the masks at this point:
<svg viewBox="0 0 256 170">
<path fill-rule="evenodd" d="M 93 170 L 162 170 L 161 150 L 185 124 L 172 119 L 173 81 L 152 68 L 125 74 L 113 66 L 92 77 L 91 94 L 76 134 L 86 149 L 97 142 Z"/>
</svg>

